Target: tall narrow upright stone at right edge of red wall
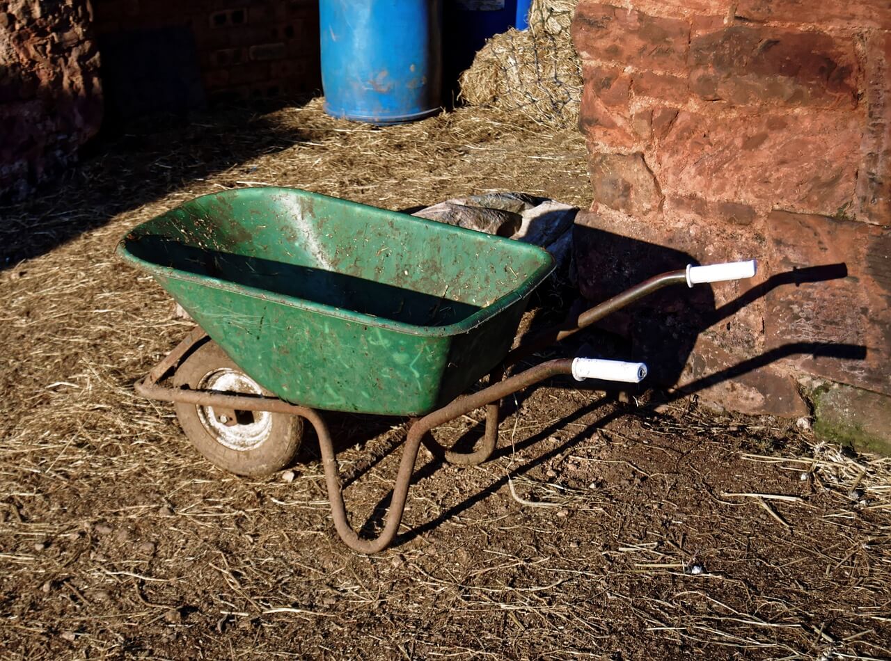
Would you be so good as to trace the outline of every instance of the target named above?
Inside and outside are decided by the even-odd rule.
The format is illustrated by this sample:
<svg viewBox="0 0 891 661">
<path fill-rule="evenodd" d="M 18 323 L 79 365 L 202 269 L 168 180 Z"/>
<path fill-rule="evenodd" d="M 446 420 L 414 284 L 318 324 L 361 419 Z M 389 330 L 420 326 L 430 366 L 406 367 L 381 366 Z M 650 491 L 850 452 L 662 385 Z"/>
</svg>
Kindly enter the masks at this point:
<svg viewBox="0 0 891 661">
<path fill-rule="evenodd" d="M 866 126 L 857 177 L 859 220 L 891 224 L 891 34 L 872 33 L 866 39 L 863 101 Z"/>
</svg>

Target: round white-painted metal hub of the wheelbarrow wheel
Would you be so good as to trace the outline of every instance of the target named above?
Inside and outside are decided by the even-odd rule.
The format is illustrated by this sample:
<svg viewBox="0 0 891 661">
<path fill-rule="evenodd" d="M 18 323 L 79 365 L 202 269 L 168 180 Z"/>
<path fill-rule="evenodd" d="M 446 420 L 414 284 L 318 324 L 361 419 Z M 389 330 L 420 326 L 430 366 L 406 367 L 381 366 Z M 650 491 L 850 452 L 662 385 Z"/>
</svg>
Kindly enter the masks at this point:
<svg viewBox="0 0 891 661">
<path fill-rule="evenodd" d="M 242 395 L 263 395 L 262 388 L 254 379 L 241 371 L 220 368 L 205 374 L 200 388 Z M 229 420 L 231 412 L 215 412 L 213 406 L 196 406 L 201 424 L 221 445 L 239 451 L 253 450 L 262 445 L 273 426 L 273 415 L 267 411 L 236 412 L 236 419 Z"/>
</svg>

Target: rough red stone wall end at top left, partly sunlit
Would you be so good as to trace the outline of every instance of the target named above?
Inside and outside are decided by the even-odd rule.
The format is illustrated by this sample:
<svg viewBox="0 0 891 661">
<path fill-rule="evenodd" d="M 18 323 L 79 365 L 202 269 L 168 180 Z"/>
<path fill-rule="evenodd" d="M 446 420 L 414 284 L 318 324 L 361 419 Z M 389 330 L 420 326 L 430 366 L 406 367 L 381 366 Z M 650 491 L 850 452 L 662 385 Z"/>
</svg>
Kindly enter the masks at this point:
<svg viewBox="0 0 891 661">
<path fill-rule="evenodd" d="M 87 0 L 0 2 L 0 196 L 77 159 L 102 119 Z"/>
</svg>

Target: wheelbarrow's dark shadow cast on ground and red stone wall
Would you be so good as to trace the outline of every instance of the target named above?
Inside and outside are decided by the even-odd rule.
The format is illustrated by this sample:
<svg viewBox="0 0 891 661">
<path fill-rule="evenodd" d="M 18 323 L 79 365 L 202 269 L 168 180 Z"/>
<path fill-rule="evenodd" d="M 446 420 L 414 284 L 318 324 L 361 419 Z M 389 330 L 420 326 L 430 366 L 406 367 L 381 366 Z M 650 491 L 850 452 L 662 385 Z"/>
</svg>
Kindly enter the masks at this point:
<svg viewBox="0 0 891 661">
<path fill-rule="evenodd" d="M 593 260 L 598 265 L 596 273 L 602 276 L 596 282 L 579 282 L 579 286 L 584 293 L 599 300 L 611 298 L 634 284 L 646 280 L 655 273 L 682 269 L 688 264 L 697 264 L 697 261 L 689 254 L 680 250 L 666 249 L 655 244 L 635 241 L 598 230 L 588 228 L 580 230 L 576 226 L 576 235 L 579 233 L 583 236 L 576 244 L 576 257 L 579 256 L 580 245 L 583 247 L 583 250 L 588 251 L 583 252 L 580 258 Z M 586 265 L 588 273 L 591 273 L 591 265 L 590 262 Z M 723 306 L 715 306 L 715 296 L 709 286 L 699 286 L 693 290 L 686 287 L 666 288 L 656 292 L 650 298 L 638 302 L 633 308 L 625 311 L 625 314 L 601 323 L 599 327 L 594 327 L 592 331 L 579 333 L 577 338 L 573 338 L 574 341 L 565 342 L 562 346 L 551 347 L 542 352 L 542 354 L 536 355 L 530 363 L 541 362 L 559 355 L 578 355 L 580 352 L 584 355 L 591 355 L 590 352 L 593 349 L 595 355 L 598 356 L 621 357 L 625 360 L 644 360 L 650 366 L 650 374 L 652 375 L 652 379 L 648 382 L 647 387 L 652 387 L 653 385 L 671 386 L 681 376 L 683 367 L 690 358 L 700 332 L 714 326 L 718 322 L 723 322 L 778 287 L 800 287 L 805 283 L 825 282 L 844 278 L 846 275 L 847 268 L 844 264 L 795 268 L 789 272 L 772 275 L 766 281 L 744 290 L 740 296 L 725 303 Z M 554 315 L 554 310 L 537 314 L 527 333 L 534 336 L 536 331 L 552 325 Z M 694 395 L 717 383 L 739 378 L 751 371 L 795 355 L 826 356 L 839 360 L 859 361 L 866 357 L 866 348 L 861 345 L 835 342 L 797 342 L 781 347 L 773 347 L 761 355 L 741 361 L 722 371 L 708 374 L 682 388 L 676 388 L 670 395 L 663 397 L 662 401 L 667 403 Z M 523 365 L 520 364 L 515 371 L 519 371 L 522 368 Z M 608 408 L 609 404 L 615 401 L 615 395 L 619 389 L 615 384 L 597 381 L 585 382 L 583 384 L 565 378 L 557 379 L 549 385 L 552 388 L 574 388 L 600 392 L 597 398 L 593 399 L 590 404 L 585 404 L 575 412 L 570 413 L 567 418 L 548 425 L 531 437 L 511 444 L 511 447 L 503 447 L 496 451 L 495 458 L 534 446 L 540 441 L 552 437 L 555 432 L 565 428 L 568 423 Z M 635 386 L 634 388 L 638 387 Z M 621 389 L 627 390 L 629 388 Z M 505 399 L 503 401 L 502 420 L 511 414 L 519 414 L 522 404 L 530 395 L 530 391 L 519 392 L 515 396 Z M 517 477 L 523 475 L 543 462 L 567 452 L 574 446 L 587 440 L 593 428 L 608 425 L 611 421 L 617 420 L 625 414 L 626 410 L 621 406 L 612 411 L 604 411 L 599 420 L 578 431 L 560 445 L 549 449 L 546 453 L 536 456 L 519 467 L 511 469 L 510 476 Z M 470 428 L 456 440 L 453 446 L 454 449 L 458 451 L 470 450 L 478 439 L 483 436 L 483 431 L 483 423 Z M 417 469 L 414 472 L 412 483 L 415 484 L 426 477 L 431 477 L 441 467 L 442 463 L 443 461 L 437 458 L 430 459 L 421 469 Z M 358 475 L 351 477 L 350 481 L 355 481 L 358 477 Z M 488 495 L 494 494 L 505 486 L 508 479 L 509 474 L 499 477 L 490 486 L 443 511 L 437 518 L 398 536 L 396 544 L 408 542 L 414 537 L 437 527 L 446 520 L 462 514 L 462 512 L 470 509 L 477 502 L 484 500 Z M 362 535 L 372 535 L 380 527 L 391 498 L 392 494 L 390 493 L 378 502 L 371 517 L 366 520 L 362 528 Z"/>
</svg>

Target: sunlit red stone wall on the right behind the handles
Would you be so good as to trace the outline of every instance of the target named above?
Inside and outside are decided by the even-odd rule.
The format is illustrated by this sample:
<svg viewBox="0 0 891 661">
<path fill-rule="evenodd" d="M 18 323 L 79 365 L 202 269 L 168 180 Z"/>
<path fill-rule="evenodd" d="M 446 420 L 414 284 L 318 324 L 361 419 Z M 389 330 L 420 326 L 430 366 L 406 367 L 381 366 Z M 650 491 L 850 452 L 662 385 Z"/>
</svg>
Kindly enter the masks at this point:
<svg viewBox="0 0 891 661">
<path fill-rule="evenodd" d="M 700 333 L 681 383 L 772 351 L 703 394 L 796 415 L 797 379 L 810 374 L 891 395 L 891 3 L 622 4 L 583 0 L 573 22 L 593 185 L 583 224 L 762 267 L 755 282 L 714 286 L 715 306 L 756 289 Z M 576 257 L 599 297 L 603 258 L 584 242 Z M 848 276 L 783 283 L 833 263 Z M 805 342 L 866 357 L 783 357 Z"/>
</svg>

